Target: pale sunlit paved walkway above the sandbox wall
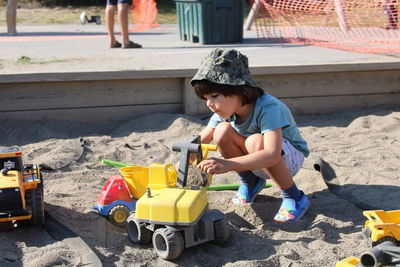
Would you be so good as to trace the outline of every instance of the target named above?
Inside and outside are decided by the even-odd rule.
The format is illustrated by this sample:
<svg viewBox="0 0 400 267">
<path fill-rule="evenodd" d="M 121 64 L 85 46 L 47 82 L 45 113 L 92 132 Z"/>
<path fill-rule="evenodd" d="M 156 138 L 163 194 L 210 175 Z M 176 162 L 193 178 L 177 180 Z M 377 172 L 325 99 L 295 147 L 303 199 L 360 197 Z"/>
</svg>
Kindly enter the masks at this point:
<svg viewBox="0 0 400 267">
<path fill-rule="evenodd" d="M 1 74 L 18 73 L 196 69 L 215 47 L 239 49 L 253 67 L 400 62 L 390 56 L 268 44 L 257 39 L 255 31 L 245 31 L 243 43 L 202 45 L 181 41 L 177 25 L 171 24 L 131 33 L 131 39 L 141 43 L 142 49 L 108 48 L 105 25 L 20 26 L 19 35 L 13 37 L 5 31 L 0 27 L 0 79 Z M 30 61 L 19 62 L 22 58 Z"/>
</svg>

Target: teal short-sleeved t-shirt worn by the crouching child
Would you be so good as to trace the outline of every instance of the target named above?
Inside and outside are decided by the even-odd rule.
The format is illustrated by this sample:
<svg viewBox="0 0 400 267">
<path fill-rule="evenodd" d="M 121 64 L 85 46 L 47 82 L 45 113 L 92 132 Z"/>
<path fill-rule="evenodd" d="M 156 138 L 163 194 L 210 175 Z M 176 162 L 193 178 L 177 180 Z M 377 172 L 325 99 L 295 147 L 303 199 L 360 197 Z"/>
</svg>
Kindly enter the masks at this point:
<svg viewBox="0 0 400 267">
<path fill-rule="evenodd" d="M 222 121 L 224 119 L 215 113 L 207 126 L 215 128 Z M 270 94 L 264 93 L 264 95 L 257 98 L 253 112 L 241 124 L 236 123 L 235 114 L 226 121 L 229 121 L 232 127 L 242 136 L 250 136 L 255 133 L 264 134 L 265 132 L 282 128 L 283 138 L 302 152 L 305 157 L 310 153 L 307 142 L 301 136 L 289 108 Z"/>
</svg>

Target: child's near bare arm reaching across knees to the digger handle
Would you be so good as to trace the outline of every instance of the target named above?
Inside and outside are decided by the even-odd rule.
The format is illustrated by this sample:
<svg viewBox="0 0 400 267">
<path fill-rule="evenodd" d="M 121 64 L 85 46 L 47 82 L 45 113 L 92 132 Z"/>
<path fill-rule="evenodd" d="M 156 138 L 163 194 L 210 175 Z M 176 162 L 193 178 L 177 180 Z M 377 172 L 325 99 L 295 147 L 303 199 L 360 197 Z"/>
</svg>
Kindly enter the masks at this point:
<svg viewBox="0 0 400 267">
<path fill-rule="evenodd" d="M 209 158 L 200 162 L 198 167 L 207 173 L 242 172 L 274 166 L 278 163 L 282 152 L 282 129 L 264 133 L 264 149 L 254 153 L 230 158 Z"/>
</svg>

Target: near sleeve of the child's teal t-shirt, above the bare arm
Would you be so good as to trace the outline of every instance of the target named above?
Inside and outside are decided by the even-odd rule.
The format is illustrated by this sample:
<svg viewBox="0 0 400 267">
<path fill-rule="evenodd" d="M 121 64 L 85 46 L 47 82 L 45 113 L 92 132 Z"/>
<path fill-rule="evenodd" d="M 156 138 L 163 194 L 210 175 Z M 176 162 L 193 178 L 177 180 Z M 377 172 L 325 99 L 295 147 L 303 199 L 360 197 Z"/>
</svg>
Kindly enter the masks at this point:
<svg viewBox="0 0 400 267">
<path fill-rule="evenodd" d="M 262 107 L 258 120 L 261 134 L 290 125 L 285 110 L 277 104 Z"/>
</svg>

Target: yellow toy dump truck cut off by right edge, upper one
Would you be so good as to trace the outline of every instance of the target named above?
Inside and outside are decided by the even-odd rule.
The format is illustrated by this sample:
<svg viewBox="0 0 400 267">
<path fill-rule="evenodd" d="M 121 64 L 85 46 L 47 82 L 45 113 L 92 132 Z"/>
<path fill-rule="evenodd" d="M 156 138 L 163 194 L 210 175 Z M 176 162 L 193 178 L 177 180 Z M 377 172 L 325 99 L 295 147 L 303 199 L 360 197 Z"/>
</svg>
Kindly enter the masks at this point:
<svg viewBox="0 0 400 267">
<path fill-rule="evenodd" d="M 372 246 L 385 241 L 400 244 L 400 210 L 368 210 L 363 215 L 368 218 L 363 232 Z"/>
</svg>

